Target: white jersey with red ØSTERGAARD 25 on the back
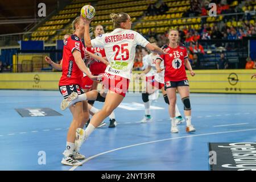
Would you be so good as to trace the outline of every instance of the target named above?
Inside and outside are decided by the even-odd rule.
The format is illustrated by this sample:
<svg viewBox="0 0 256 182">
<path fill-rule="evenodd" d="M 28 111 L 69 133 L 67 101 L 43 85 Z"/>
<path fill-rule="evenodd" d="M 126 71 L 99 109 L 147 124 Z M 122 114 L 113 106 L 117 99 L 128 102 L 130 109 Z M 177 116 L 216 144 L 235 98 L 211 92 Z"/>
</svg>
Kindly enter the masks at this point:
<svg viewBox="0 0 256 182">
<path fill-rule="evenodd" d="M 104 47 L 109 65 L 105 72 L 112 75 L 131 78 L 135 48 L 137 45 L 146 47 L 149 42 L 141 34 L 133 30 L 115 28 L 108 34 L 92 39 L 92 47 Z"/>
</svg>

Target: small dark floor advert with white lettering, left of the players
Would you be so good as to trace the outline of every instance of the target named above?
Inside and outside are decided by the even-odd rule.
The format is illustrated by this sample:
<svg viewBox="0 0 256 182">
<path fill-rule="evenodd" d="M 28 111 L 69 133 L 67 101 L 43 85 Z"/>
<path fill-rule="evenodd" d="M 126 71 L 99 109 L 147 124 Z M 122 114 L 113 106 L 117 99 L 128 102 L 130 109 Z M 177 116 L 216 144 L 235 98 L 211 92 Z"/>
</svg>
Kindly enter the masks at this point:
<svg viewBox="0 0 256 182">
<path fill-rule="evenodd" d="M 44 117 L 62 115 L 51 108 L 22 108 L 15 109 L 22 117 Z"/>
</svg>

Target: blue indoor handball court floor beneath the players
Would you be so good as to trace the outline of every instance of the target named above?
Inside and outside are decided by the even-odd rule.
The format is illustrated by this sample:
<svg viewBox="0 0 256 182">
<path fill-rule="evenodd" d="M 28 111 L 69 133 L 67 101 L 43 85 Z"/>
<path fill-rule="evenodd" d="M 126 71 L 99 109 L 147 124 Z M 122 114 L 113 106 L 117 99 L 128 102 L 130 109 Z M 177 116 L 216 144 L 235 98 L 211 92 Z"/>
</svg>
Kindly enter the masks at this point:
<svg viewBox="0 0 256 182">
<path fill-rule="evenodd" d="M 196 132 L 170 133 L 162 95 L 152 102 L 152 122 L 143 118 L 141 94 L 127 94 L 115 109 L 118 125 L 94 130 L 81 147 L 81 167 L 63 166 L 62 152 L 72 115 L 61 111 L 59 91 L 0 90 L 0 170 L 203 170 L 209 168 L 209 142 L 255 142 L 255 94 L 191 94 Z M 177 97 L 183 114 L 183 105 Z M 94 105 L 98 109 L 102 103 Z M 21 117 L 20 108 L 49 107 L 62 115 Z M 46 164 L 39 164 L 42 151 Z"/>
</svg>

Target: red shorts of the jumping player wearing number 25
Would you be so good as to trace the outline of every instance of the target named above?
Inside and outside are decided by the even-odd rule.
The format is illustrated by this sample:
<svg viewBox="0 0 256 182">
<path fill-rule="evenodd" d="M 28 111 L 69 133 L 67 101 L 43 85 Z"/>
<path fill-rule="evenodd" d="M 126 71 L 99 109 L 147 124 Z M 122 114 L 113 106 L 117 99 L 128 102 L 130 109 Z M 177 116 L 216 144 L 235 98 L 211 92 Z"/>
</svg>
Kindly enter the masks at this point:
<svg viewBox="0 0 256 182">
<path fill-rule="evenodd" d="M 117 75 L 111 75 L 104 73 L 102 76 L 102 84 L 105 89 L 111 90 L 114 93 L 118 93 L 125 97 L 125 94 L 129 88 L 130 80 Z"/>
</svg>

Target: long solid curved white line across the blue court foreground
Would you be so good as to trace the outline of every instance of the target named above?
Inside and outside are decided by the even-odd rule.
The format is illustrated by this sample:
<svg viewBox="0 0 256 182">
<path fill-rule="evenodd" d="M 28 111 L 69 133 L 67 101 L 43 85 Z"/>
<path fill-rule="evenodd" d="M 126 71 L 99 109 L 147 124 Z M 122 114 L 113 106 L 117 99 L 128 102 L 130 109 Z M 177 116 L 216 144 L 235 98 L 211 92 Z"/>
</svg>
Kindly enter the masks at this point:
<svg viewBox="0 0 256 182">
<path fill-rule="evenodd" d="M 224 134 L 224 133 L 236 133 L 236 132 L 241 132 L 241 131 L 253 131 L 253 130 L 256 130 L 256 129 L 234 130 L 234 131 L 222 131 L 222 132 L 216 132 L 216 133 L 205 133 L 205 134 L 198 134 L 198 135 L 187 135 L 187 136 L 184 136 L 184 137 L 166 138 L 166 139 L 162 139 L 162 140 L 154 140 L 154 141 L 151 141 L 151 142 L 137 143 L 137 144 L 132 144 L 132 145 L 130 145 L 130 146 L 115 148 L 115 149 L 113 149 L 113 150 L 109 150 L 109 151 L 106 151 L 106 152 L 102 152 L 102 153 L 100 153 L 100 154 L 96 154 L 96 155 L 90 156 L 89 158 L 87 158 L 87 159 L 85 159 L 85 160 L 82 160 L 81 163 L 84 164 L 85 162 L 88 162 L 90 159 L 96 158 L 97 156 L 100 156 L 100 155 L 108 154 L 108 153 L 110 153 L 110 152 L 114 152 L 114 151 L 117 151 L 117 150 L 122 150 L 122 149 L 125 149 L 125 148 L 130 148 L 130 147 L 135 147 L 135 146 L 141 146 L 141 145 L 143 145 L 143 144 L 156 143 L 156 142 L 163 142 L 163 141 L 167 141 L 167 140 L 174 140 L 174 139 L 180 139 L 180 138 L 200 137 L 200 136 L 204 136 L 204 135 L 216 135 L 216 134 Z M 78 166 L 73 166 L 72 168 L 69 169 L 69 171 L 74 171 L 77 167 L 78 167 Z"/>
</svg>

